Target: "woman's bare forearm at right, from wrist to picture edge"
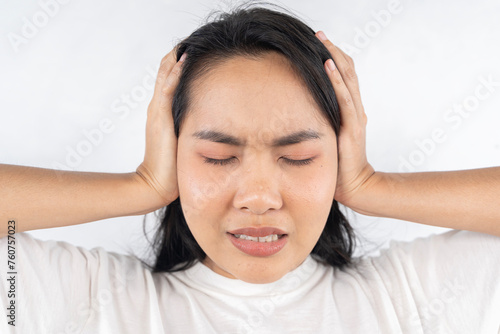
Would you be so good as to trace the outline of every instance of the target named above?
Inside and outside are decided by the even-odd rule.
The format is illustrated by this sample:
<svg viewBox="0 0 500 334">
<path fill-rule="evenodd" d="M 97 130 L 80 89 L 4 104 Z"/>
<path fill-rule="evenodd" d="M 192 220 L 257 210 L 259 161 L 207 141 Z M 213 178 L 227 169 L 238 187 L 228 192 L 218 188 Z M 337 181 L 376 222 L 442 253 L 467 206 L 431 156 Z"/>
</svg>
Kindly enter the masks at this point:
<svg viewBox="0 0 500 334">
<path fill-rule="evenodd" d="M 357 191 L 355 211 L 500 236 L 500 168 L 375 173 Z"/>
</svg>

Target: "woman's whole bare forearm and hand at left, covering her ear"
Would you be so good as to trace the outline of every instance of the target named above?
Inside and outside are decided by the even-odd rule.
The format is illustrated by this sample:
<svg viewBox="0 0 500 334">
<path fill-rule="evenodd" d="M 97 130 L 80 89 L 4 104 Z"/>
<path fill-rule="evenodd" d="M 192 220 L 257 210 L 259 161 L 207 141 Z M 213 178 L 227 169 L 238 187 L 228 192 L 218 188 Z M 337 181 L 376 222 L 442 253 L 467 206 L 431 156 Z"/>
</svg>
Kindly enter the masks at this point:
<svg viewBox="0 0 500 334">
<path fill-rule="evenodd" d="M 146 123 L 144 161 L 131 173 L 52 170 L 0 164 L 0 238 L 17 232 L 143 215 L 177 197 L 177 137 L 172 99 L 182 62 L 176 49 L 161 62 Z M 14 224 L 14 223 L 13 223 Z"/>
</svg>

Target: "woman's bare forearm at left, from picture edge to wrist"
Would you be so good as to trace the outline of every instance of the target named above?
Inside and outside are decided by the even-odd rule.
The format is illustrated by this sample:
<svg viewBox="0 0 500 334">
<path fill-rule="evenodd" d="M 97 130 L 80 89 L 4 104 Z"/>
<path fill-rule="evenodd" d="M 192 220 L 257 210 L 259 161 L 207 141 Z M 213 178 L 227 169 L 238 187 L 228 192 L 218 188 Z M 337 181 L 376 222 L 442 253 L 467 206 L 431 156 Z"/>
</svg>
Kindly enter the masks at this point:
<svg viewBox="0 0 500 334">
<path fill-rule="evenodd" d="M 56 171 L 0 164 L 0 236 L 139 215 L 165 205 L 138 174 Z"/>
</svg>

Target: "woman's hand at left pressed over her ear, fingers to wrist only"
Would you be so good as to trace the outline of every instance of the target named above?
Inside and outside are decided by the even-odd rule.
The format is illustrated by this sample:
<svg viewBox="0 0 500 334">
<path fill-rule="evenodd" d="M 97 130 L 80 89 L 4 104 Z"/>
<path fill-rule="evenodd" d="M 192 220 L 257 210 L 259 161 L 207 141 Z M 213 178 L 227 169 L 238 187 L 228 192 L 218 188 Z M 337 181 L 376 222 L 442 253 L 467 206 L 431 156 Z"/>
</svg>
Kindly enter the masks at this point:
<svg viewBox="0 0 500 334">
<path fill-rule="evenodd" d="M 146 153 L 136 173 L 163 206 L 179 196 L 177 185 L 177 137 L 172 117 L 172 100 L 184 59 L 176 62 L 174 48 L 163 57 L 146 122 Z M 183 55 L 185 57 L 185 55 Z"/>
</svg>

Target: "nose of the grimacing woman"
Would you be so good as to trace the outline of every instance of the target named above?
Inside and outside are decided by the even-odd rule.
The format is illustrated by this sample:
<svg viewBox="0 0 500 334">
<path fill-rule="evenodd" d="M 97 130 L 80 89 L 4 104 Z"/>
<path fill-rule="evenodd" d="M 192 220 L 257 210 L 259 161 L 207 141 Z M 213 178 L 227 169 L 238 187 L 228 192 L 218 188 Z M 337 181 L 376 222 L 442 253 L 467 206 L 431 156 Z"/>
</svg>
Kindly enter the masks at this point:
<svg viewBox="0 0 500 334">
<path fill-rule="evenodd" d="M 283 206 L 278 173 L 262 167 L 253 166 L 239 178 L 238 191 L 233 200 L 236 209 L 261 215 Z"/>
</svg>

